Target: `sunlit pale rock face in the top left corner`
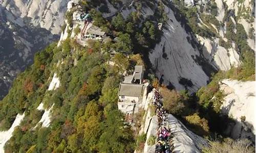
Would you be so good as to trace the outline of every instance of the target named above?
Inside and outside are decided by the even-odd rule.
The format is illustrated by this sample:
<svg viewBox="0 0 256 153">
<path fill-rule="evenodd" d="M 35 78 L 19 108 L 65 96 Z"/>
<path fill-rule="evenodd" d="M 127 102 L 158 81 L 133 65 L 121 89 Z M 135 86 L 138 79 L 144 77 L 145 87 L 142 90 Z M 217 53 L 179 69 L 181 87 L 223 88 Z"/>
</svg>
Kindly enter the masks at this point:
<svg viewBox="0 0 256 153">
<path fill-rule="evenodd" d="M 59 34 L 61 24 L 64 21 L 64 14 L 67 10 L 68 0 L 56 1 L 20 1 L 11 0 L 3 1 L 2 6 L 10 10 L 19 22 L 24 24 L 24 17 L 30 17 L 34 26 L 39 26 L 51 31 L 53 34 Z"/>
</svg>

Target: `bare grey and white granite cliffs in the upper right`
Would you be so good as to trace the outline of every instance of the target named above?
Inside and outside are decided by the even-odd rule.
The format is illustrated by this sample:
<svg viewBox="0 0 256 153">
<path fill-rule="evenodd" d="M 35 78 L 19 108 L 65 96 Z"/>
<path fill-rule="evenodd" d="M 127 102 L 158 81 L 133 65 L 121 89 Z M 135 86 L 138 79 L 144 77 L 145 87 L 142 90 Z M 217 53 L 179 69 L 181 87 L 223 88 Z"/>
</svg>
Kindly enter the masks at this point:
<svg viewBox="0 0 256 153">
<path fill-rule="evenodd" d="M 195 92 L 201 86 L 207 84 L 211 72 L 215 70 L 226 71 L 231 66 L 241 64 L 238 44 L 232 41 L 230 47 L 223 47 L 219 41 L 220 39 L 225 42 L 228 41 L 226 38 L 227 20 L 223 20 L 225 11 L 232 12 L 234 10 L 236 12 L 232 16 L 227 15 L 235 24 L 233 31 L 236 33 L 237 23 L 242 24 L 247 34 L 247 44 L 255 52 L 255 40 L 249 37 L 250 33 L 253 37 L 255 35 L 253 11 L 255 5 L 253 2 L 245 1 L 239 3 L 238 1 L 224 2 L 222 0 L 215 2 L 218 7 L 218 14 L 215 17 L 220 23 L 224 23 L 223 27 L 217 29 L 217 25 L 211 23 L 206 25 L 198 14 L 199 27 L 204 26 L 208 29 L 216 30 L 216 37 L 211 38 L 199 35 L 193 36 L 186 30 L 182 21 L 177 18 L 177 12 L 165 6 L 165 12 L 169 20 L 164 24 L 161 41 L 156 44 L 149 58 L 157 77 L 170 88 L 176 88 L 177 90 L 188 89 Z M 226 10 L 224 4 L 228 6 Z M 247 12 L 241 11 L 241 7 L 246 8 Z M 246 19 L 246 14 L 250 16 L 250 20 Z"/>
</svg>

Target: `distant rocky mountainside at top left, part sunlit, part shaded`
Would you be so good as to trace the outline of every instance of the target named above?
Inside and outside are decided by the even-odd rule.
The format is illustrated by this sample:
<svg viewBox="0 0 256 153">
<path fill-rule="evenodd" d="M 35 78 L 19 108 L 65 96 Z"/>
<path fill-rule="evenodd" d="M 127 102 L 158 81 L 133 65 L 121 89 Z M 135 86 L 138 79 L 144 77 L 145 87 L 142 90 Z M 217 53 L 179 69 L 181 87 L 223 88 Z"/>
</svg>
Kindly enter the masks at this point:
<svg viewBox="0 0 256 153">
<path fill-rule="evenodd" d="M 0 99 L 36 52 L 56 41 L 68 1 L 3 1 L 0 4 Z"/>
</svg>

